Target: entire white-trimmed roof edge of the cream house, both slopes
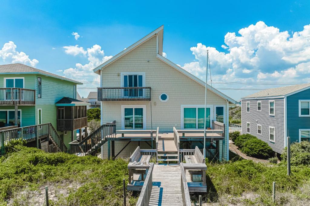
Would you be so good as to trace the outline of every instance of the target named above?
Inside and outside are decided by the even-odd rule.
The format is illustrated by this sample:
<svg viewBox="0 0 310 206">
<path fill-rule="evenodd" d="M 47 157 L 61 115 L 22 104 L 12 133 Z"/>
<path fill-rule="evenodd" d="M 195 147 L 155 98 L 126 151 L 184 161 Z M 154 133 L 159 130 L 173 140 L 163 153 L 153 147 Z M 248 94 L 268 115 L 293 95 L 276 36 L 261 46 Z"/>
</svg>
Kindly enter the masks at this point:
<svg viewBox="0 0 310 206">
<path fill-rule="evenodd" d="M 164 33 L 164 25 L 162 25 L 161 27 L 155 29 L 153 32 L 149 33 L 147 36 L 144 36 L 142 39 L 137 41 L 135 44 L 132 44 L 130 47 L 128 47 L 125 50 L 123 50 L 122 52 L 118 53 L 117 55 L 115 55 L 114 57 L 109 59 L 108 61 L 106 61 L 103 64 L 99 65 L 98 67 L 93 69 L 93 71 L 96 74 L 100 74 L 100 70 L 104 69 L 104 67 L 110 65 L 111 63 L 113 63 L 117 59 L 119 59 L 122 56 L 124 56 L 126 53 L 128 53 L 128 52 L 132 51 L 133 49 L 137 48 L 139 45 L 143 44 L 144 42 L 146 42 L 147 40 L 149 40 L 153 36 L 158 36 L 158 38 L 157 38 L 158 39 L 157 40 L 157 58 L 162 60 L 166 64 L 170 65 L 171 67 L 177 69 L 179 72 L 183 73 L 184 75 L 188 76 L 189 78 L 193 79 L 194 81 L 196 81 L 197 83 L 199 83 L 199 84 L 201 84 L 202 86 L 205 87 L 206 86 L 206 82 L 202 81 L 201 79 L 197 78 L 193 74 L 189 73 L 185 69 L 179 67 L 178 65 L 176 65 L 172 61 L 170 61 L 167 58 L 162 56 L 163 33 Z M 236 103 L 236 101 L 234 99 L 228 97 L 227 95 L 224 95 L 222 92 L 220 92 L 219 90 L 211 87 L 209 84 L 207 84 L 207 88 L 210 91 L 214 92 L 215 94 L 219 95 L 220 97 L 222 97 L 224 99 L 227 99 L 229 101 L 229 103 L 234 103 L 234 104 Z"/>
</svg>

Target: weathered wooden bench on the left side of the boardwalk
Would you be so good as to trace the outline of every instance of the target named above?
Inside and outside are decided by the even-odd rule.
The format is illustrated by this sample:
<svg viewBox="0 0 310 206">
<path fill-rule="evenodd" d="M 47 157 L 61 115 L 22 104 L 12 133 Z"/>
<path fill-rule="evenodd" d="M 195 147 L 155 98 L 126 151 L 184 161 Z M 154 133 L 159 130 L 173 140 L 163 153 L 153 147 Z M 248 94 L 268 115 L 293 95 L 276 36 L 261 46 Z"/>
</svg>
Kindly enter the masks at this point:
<svg viewBox="0 0 310 206">
<path fill-rule="evenodd" d="M 129 158 L 129 162 L 148 163 L 151 159 L 151 155 L 141 155 L 140 147 L 135 149 L 134 153 Z M 141 180 L 144 180 L 143 175 L 146 174 L 146 169 L 128 169 L 129 170 L 129 183 L 131 182 L 131 176 L 133 179 L 134 174 L 141 174 Z"/>
</svg>

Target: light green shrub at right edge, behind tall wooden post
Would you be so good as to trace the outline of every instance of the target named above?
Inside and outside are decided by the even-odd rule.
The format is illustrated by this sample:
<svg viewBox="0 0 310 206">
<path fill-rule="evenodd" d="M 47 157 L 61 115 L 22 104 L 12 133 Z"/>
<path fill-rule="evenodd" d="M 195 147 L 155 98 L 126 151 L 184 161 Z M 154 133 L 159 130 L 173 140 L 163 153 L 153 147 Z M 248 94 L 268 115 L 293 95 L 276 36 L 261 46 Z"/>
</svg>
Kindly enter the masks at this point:
<svg viewBox="0 0 310 206">
<path fill-rule="evenodd" d="M 281 158 L 287 161 L 287 149 L 283 150 Z M 310 165 L 310 142 L 302 141 L 291 144 L 290 146 L 291 165 Z"/>
</svg>

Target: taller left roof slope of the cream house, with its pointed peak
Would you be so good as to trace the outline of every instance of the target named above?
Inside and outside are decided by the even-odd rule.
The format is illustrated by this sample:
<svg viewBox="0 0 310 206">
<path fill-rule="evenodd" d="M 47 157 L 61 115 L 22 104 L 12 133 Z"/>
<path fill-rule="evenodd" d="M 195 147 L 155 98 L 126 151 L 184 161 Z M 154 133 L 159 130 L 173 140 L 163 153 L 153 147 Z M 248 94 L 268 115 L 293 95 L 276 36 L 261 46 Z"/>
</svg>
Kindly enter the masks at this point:
<svg viewBox="0 0 310 206">
<path fill-rule="evenodd" d="M 122 56 L 124 56 L 125 54 L 131 52 L 133 49 L 137 48 L 139 45 L 143 44 L 144 42 L 146 42 L 147 40 L 149 40 L 150 38 L 152 38 L 153 36 L 156 36 L 156 35 L 158 35 L 158 53 L 162 55 L 163 33 L 164 33 L 164 25 L 158 27 L 153 32 L 144 36 L 142 39 L 137 41 L 135 44 L 132 44 L 130 47 L 128 47 L 125 50 L 123 50 L 122 52 L 118 53 L 117 55 L 115 55 L 114 57 L 109 59 L 108 61 L 105 61 L 101 65 L 97 66 L 95 69 L 93 69 L 93 71 L 96 74 L 100 74 L 100 69 L 103 69 L 104 67 L 110 65 L 111 63 L 113 63 L 117 59 L 119 59 Z"/>
</svg>

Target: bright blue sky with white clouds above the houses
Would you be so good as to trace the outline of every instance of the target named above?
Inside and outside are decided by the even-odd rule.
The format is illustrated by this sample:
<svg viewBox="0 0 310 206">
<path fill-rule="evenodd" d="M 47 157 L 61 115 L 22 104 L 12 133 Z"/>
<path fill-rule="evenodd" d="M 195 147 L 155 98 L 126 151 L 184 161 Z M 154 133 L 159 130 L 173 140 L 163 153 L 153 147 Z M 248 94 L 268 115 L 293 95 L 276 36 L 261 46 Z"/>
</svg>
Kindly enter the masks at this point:
<svg viewBox="0 0 310 206">
<path fill-rule="evenodd" d="M 246 89 L 220 90 L 238 100 L 252 89 L 283 86 L 247 83 L 310 82 L 309 11 L 308 1 L 4 1 L 0 64 L 96 82 L 99 75 L 86 75 L 91 67 L 164 25 L 167 58 L 205 80 L 208 49 L 213 82 L 243 82 L 213 86 Z"/>
</svg>

